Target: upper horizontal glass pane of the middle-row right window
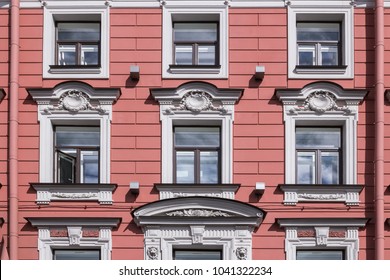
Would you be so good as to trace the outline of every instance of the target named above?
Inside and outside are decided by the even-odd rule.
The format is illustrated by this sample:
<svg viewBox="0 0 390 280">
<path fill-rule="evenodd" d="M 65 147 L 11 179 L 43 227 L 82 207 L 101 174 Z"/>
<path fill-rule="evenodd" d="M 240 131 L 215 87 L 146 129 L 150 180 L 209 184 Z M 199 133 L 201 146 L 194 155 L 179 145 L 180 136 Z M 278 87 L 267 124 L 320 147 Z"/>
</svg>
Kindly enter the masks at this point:
<svg viewBox="0 0 390 280">
<path fill-rule="evenodd" d="M 341 129 L 338 127 L 297 127 L 297 148 L 333 148 L 341 147 Z"/>
</svg>

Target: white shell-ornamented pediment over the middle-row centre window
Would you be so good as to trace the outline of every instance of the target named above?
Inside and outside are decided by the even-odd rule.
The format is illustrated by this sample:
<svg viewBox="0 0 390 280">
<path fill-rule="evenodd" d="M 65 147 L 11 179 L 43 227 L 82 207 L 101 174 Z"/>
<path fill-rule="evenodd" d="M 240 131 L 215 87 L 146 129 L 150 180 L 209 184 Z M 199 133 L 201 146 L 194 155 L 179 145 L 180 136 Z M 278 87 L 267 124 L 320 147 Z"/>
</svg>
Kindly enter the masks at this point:
<svg viewBox="0 0 390 280">
<path fill-rule="evenodd" d="M 151 89 L 161 114 L 233 114 L 242 89 L 218 89 L 206 83 L 187 83 L 176 89 Z"/>
</svg>

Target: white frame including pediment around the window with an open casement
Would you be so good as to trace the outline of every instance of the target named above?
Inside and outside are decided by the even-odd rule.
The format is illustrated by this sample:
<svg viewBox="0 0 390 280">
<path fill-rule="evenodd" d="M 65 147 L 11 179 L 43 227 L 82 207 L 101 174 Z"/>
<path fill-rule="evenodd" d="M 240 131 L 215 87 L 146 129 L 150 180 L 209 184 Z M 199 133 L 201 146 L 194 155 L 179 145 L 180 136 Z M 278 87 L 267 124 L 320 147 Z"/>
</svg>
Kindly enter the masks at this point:
<svg viewBox="0 0 390 280">
<path fill-rule="evenodd" d="M 72 107 L 68 92 L 77 90 L 88 98 L 80 98 L 81 104 Z M 39 181 L 54 181 L 54 126 L 93 124 L 100 127 L 100 183 L 110 183 L 110 136 L 112 104 L 120 92 L 118 89 L 94 89 L 87 84 L 69 82 L 54 89 L 29 90 L 38 103 L 39 130 Z M 70 103 L 69 103 L 70 101 Z M 75 102 L 77 104 L 77 102 Z"/>
</svg>

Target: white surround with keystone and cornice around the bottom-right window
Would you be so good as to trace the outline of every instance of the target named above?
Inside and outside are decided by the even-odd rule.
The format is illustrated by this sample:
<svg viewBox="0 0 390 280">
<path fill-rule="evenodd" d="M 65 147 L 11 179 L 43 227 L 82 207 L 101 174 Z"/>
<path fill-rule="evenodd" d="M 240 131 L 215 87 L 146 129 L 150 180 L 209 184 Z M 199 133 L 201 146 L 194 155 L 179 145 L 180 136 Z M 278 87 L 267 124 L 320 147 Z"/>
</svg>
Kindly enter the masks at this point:
<svg viewBox="0 0 390 280">
<path fill-rule="evenodd" d="M 366 225 L 367 219 L 359 218 L 287 218 L 277 219 L 285 228 L 286 260 L 296 260 L 299 249 L 343 250 L 346 260 L 359 259 L 359 228 Z M 314 229 L 315 236 L 300 237 L 299 230 Z M 330 236 L 331 229 L 344 231 L 344 237 Z"/>
</svg>

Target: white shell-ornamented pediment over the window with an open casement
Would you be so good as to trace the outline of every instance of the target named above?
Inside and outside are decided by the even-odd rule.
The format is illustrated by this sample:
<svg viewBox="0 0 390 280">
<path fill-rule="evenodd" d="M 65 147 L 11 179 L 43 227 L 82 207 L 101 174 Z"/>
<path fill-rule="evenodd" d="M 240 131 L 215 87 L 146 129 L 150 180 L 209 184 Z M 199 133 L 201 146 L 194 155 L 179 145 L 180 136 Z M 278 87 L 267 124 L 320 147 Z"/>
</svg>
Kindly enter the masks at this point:
<svg viewBox="0 0 390 280">
<path fill-rule="evenodd" d="M 28 92 L 42 114 L 111 114 L 112 104 L 120 96 L 119 89 L 95 89 L 79 82 L 60 84 L 53 89 L 29 89 Z"/>
</svg>

